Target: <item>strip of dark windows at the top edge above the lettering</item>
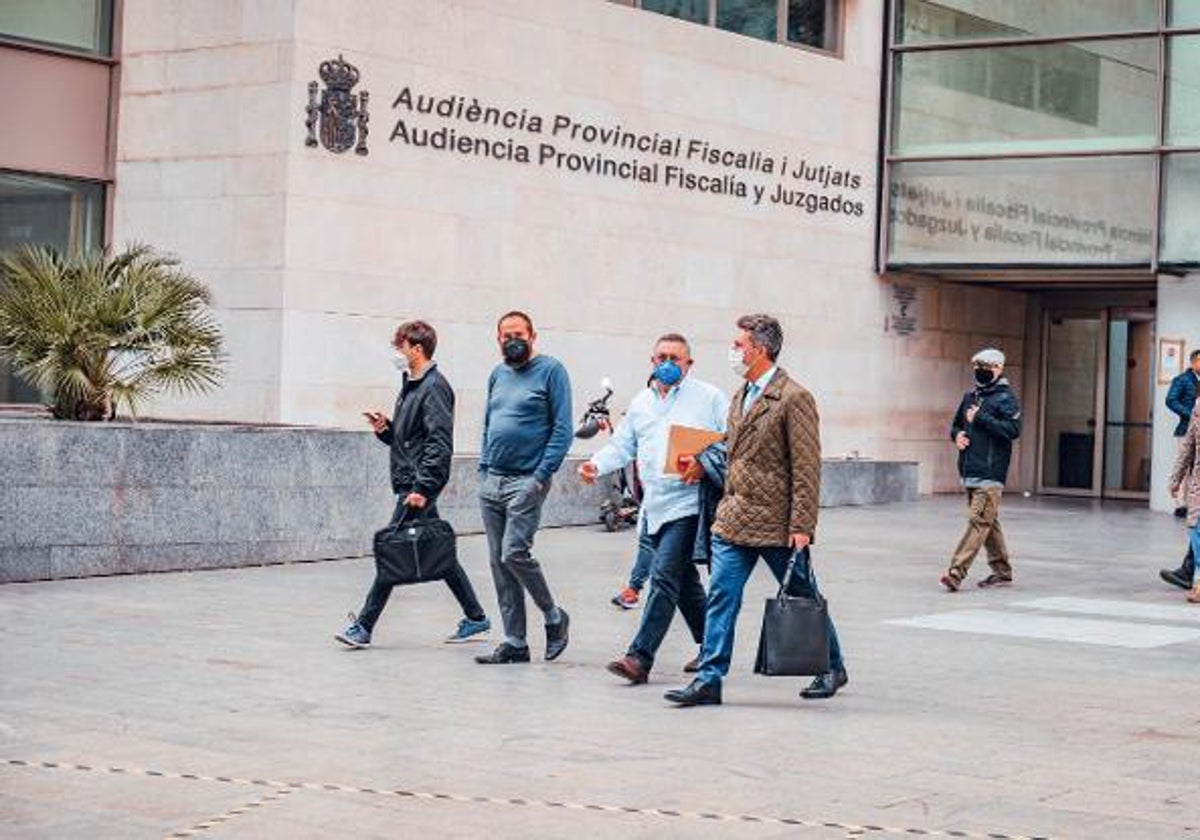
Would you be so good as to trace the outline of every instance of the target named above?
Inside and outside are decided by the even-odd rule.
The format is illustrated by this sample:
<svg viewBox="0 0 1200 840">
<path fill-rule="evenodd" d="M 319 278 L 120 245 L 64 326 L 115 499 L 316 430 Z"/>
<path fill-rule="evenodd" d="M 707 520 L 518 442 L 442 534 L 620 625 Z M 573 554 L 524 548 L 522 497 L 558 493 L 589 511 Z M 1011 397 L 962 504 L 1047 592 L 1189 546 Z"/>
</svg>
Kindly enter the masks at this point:
<svg viewBox="0 0 1200 840">
<path fill-rule="evenodd" d="M 708 24 L 761 41 L 811 47 L 839 44 L 841 0 L 613 0 L 648 12 Z"/>
</svg>

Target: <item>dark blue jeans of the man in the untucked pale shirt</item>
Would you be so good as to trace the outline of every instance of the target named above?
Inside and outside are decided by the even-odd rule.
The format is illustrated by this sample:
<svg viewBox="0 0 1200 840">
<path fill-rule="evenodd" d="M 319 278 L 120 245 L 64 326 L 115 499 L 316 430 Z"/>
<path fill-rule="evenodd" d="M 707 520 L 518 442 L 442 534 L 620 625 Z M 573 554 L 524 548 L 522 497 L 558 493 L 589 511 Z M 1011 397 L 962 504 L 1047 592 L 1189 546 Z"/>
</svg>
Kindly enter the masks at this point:
<svg viewBox="0 0 1200 840">
<path fill-rule="evenodd" d="M 650 594 L 646 599 L 637 635 L 629 646 L 629 655 L 635 656 L 647 671 L 654 667 L 654 654 L 671 628 L 676 607 L 688 623 L 692 638 L 700 643 L 704 637 L 704 586 L 700 582 L 696 564 L 691 562 L 697 521 L 696 516 L 685 516 L 666 522 L 658 534 L 649 538 L 654 552 Z"/>
</svg>

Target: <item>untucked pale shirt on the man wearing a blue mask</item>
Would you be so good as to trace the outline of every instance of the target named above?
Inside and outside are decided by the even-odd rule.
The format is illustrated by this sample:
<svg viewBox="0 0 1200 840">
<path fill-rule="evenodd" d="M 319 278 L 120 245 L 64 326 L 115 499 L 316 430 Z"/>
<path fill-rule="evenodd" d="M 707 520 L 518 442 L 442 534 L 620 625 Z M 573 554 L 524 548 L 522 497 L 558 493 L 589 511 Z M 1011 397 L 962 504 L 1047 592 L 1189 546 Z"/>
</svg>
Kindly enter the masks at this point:
<svg viewBox="0 0 1200 840">
<path fill-rule="evenodd" d="M 665 523 L 700 512 L 700 488 L 684 484 L 677 473 L 665 469 L 671 426 L 724 432 L 728 410 L 730 398 L 719 388 L 695 377 L 685 377 L 665 396 L 647 388 L 629 403 L 612 439 L 592 456 L 601 475 L 637 458 L 647 533 L 656 534 Z"/>
</svg>

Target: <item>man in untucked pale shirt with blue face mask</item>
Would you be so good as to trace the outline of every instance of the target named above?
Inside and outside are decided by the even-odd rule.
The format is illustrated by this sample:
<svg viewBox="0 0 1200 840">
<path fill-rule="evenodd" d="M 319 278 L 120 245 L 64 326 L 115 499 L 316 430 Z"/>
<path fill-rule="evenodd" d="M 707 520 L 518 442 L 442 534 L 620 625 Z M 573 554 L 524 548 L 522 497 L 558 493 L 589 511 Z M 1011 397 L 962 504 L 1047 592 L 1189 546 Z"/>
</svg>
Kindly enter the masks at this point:
<svg viewBox="0 0 1200 840">
<path fill-rule="evenodd" d="M 678 607 L 692 626 L 703 626 L 704 587 L 692 563 L 700 491 L 683 482 L 674 464 L 667 469 L 671 426 L 725 431 L 730 401 L 708 383 L 688 376 L 688 340 L 668 334 L 654 344 L 653 382 L 634 397 L 612 439 L 580 467 L 588 484 L 637 460 L 642 479 L 642 516 L 653 541 L 650 594 L 629 652 L 608 664 L 608 671 L 637 685 L 649 679 L 654 655 Z"/>
</svg>

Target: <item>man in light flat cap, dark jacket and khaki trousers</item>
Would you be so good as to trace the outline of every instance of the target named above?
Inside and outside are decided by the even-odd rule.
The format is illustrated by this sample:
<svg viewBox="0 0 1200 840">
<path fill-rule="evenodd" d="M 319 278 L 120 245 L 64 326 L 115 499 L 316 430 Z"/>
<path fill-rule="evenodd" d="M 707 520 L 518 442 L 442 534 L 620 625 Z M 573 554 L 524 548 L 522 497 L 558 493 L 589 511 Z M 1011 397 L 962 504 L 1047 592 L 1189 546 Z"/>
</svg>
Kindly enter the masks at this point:
<svg viewBox="0 0 1200 840">
<path fill-rule="evenodd" d="M 1021 407 L 1003 377 L 1004 354 L 989 348 L 976 353 L 976 385 L 959 403 L 950 424 L 950 439 L 959 449 L 959 475 L 967 491 L 970 520 L 954 551 L 942 586 L 958 592 L 979 548 L 988 548 L 991 574 L 979 581 L 983 588 L 1008 586 L 1013 566 L 1008 562 L 1004 532 L 1000 528 L 1000 497 L 1013 456 L 1013 440 L 1021 433 Z"/>
</svg>

